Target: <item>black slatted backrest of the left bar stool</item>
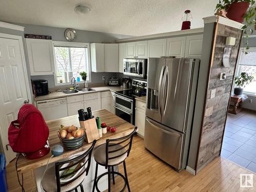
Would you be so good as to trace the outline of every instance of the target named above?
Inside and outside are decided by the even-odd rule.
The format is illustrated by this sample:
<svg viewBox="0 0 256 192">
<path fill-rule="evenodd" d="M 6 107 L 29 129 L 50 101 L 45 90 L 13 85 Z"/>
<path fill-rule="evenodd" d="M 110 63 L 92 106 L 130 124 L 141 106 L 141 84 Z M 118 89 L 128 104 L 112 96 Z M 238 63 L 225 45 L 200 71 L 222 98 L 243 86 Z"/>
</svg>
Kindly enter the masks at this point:
<svg viewBox="0 0 256 192">
<path fill-rule="evenodd" d="M 86 175 L 88 175 L 90 164 L 91 164 L 91 157 L 92 157 L 92 151 L 94 148 L 94 145 L 96 143 L 96 140 L 93 141 L 91 147 L 89 150 L 84 152 L 82 155 L 79 155 L 75 158 L 71 158 L 67 161 L 57 162 L 55 163 L 55 175 L 56 175 L 56 182 L 57 182 L 57 191 L 60 191 L 60 188 L 62 186 L 69 185 L 70 183 L 74 182 L 76 179 L 81 177 L 84 172 L 86 172 Z M 75 168 L 73 166 L 76 166 Z M 74 168 L 69 170 L 71 167 Z M 67 170 L 69 170 L 67 172 Z M 78 173 L 78 174 L 77 174 Z M 69 181 L 63 181 L 63 179 L 66 180 L 67 177 L 73 177 L 75 174 L 77 174 L 72 180 Z M 62 180 L 62 181 L 61 181 Z"/>
</svg>

